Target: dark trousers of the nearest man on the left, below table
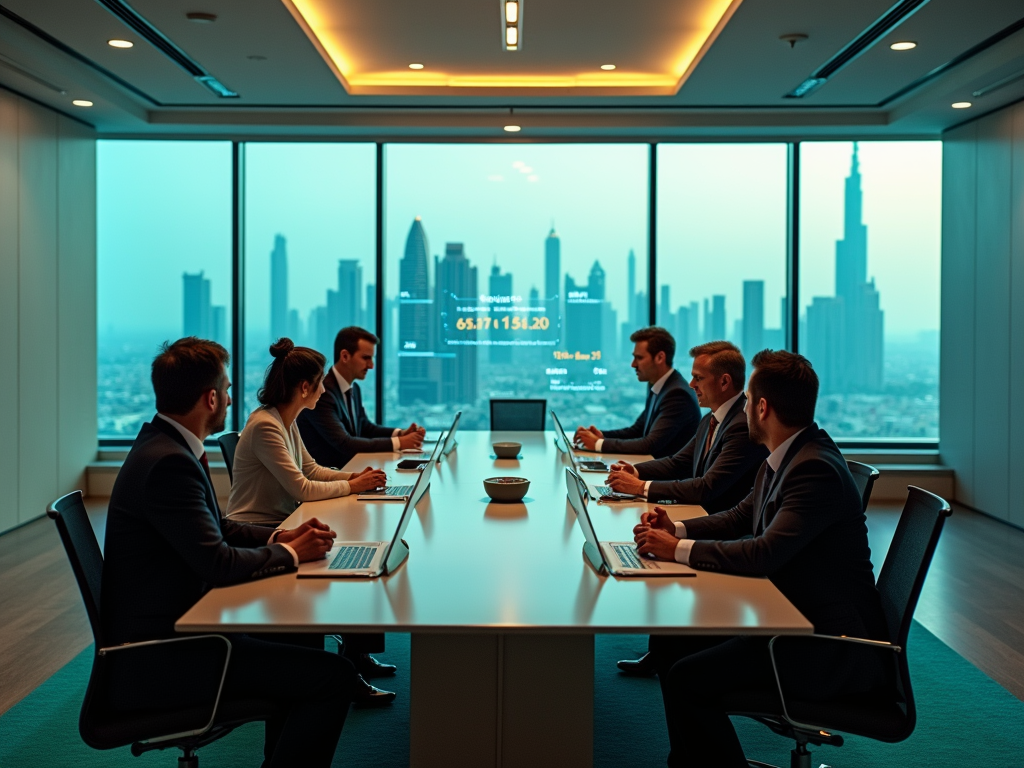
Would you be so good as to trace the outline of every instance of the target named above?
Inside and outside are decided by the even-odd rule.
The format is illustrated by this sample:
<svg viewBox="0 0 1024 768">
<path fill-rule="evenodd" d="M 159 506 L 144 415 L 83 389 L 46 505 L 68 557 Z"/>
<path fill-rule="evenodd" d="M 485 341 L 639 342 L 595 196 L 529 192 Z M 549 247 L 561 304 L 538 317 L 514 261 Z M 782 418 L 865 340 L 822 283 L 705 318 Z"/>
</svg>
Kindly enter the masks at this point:
<svg viewBox="0 0 1024 768">
<path fill-rule="evenodd" d="M 292 643 L 233 635 L 223 698 L 269 699 L 263 768 L 329 768 L 354 695 L 347 658 Z"/>
</svg>

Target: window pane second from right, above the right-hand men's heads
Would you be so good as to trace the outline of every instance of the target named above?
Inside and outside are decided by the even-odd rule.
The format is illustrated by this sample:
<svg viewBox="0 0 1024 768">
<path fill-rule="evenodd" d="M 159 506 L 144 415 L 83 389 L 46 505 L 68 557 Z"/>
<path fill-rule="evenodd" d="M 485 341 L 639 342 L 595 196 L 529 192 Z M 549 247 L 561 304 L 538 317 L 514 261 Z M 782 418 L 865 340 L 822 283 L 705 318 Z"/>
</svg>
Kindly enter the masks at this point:
<svg viewBox="0 0 1024 768">
<path fill-rule="evenodd" d="M 657 323 L 686 351 L 786 345 L 785 144 L 659 144 Z"/>
</svg>

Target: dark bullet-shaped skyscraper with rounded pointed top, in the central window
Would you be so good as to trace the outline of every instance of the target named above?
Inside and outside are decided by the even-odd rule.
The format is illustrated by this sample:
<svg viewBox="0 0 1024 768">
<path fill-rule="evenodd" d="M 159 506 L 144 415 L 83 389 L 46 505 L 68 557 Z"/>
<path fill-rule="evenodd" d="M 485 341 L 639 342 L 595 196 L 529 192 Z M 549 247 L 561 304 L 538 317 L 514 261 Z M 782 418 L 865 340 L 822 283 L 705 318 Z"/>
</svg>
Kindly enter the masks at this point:
<svg viewBox="0 0 1024 768">
<path fill-rule="evenodd" d="M 433 331 L 437 322 L 430 293 L 427 232 L 417 216 L 406 238 L 398 263 L 398 403 L 437 402 L 437 381 L 431 376 Z"/>
</svg>

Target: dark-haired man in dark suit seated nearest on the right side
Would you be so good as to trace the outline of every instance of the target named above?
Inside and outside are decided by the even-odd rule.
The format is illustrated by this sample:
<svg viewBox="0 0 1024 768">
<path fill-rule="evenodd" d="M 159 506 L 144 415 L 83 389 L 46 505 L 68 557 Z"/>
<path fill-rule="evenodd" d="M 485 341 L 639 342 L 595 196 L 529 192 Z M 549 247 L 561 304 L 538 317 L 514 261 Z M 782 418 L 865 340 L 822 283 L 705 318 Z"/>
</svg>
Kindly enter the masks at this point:
<svg viewBox="0 0 1024 768">
<path fill-rule="evenodd" d="M 754 490 L 732 509 L 685 523 L 673 523 L 662 508 L 644 513 L 635 529 L 638 549 L 697 569 L 768 578 L 816 633 L 884 639 L 860 495 L 836 443 L 813 421 L 817 375 L 792 352 L 765 350 L 753 365 L 748 426 L 751 439 L 771 452 Z M 746 768 L 727 713 L 736 696 L 751 692 L 781 713 L 768 638 L 666 637 L 651 645 L 669 765 Z M 800 659 L 802 675 L 788 684 L 796 695 L 828 698 L 885 683 L 881 658 L 820 645 Z"/>
</svg>

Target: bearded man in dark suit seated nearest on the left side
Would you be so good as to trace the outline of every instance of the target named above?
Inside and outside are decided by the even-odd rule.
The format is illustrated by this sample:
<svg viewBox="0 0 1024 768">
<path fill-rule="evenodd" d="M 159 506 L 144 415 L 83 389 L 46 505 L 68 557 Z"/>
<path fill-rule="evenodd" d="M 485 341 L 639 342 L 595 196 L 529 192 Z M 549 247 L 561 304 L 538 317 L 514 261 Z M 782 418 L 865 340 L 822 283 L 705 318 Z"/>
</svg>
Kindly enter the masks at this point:
<svg viewBox="0 0 1024 768">
<path fill-rule="evenodd" d="M 101 621 L 111 645 L 174 637 L 175 621 L 211 587 L 293 571 L 331 548 L 335 534 L 317 520 L 274 530 L 221 518 L 203 440 L 224 428 L 226 362 L 222 346 L 195 337 L 165 345 L 153 362 L 158 414 L 125 459 L 106 516 Z M 357 684 L 351 663 L 245 635 L 229 640 L 221 711 L 269 702 L 264 766 L 330 766 Z M 146 672 L 157 668 L 170 684 L 143 690 L 138 657 L 114 659 L 110 706 L 196 705 L 219 662 L 188 643 L 163 647 Z"/>
</svg>

